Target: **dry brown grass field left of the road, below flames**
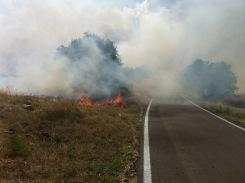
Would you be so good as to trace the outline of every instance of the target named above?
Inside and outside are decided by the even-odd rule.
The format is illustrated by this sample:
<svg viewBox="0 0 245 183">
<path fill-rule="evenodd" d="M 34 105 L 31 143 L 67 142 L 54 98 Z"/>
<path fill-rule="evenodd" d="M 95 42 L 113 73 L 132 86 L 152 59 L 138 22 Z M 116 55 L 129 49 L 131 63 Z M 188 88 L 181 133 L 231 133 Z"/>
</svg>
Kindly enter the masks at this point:
<svg viewBox="0 0 245 183">
<path fill-rule="evenodd" d="M 135 176 L 142 107 L 0 94 L 0 182 L 120 182 Z"/>
</svg>

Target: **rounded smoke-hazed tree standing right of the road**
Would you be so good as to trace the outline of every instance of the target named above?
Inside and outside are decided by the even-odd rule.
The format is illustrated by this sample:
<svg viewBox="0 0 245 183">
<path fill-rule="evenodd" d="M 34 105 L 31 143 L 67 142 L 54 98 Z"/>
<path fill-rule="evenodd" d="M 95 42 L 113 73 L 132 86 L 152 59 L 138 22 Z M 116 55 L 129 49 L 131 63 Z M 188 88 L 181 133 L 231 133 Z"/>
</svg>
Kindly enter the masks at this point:
<svg viewBox="0 0 245 183">
<path fill-rule="evenodd" d="M 186 68 L 181 81 L 186 93 L 205 100 L 221 100 L 237 90 L 236 76 L 225 62 L 197 59 Z"/>
</svg>

